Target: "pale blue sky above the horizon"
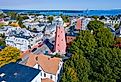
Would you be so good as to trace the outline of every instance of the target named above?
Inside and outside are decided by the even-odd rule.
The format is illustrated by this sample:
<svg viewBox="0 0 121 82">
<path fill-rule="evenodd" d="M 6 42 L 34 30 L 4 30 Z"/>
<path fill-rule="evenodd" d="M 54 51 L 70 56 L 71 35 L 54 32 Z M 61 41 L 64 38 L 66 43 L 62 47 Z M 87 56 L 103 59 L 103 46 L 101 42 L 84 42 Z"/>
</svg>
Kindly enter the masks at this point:
<svg viewBox="0 0 121 82">
<path fill-rule="evenodd" d="M 0 9 L 29 9 L 29 10 L 121 9 L 121 0 L 0 0 Z"/>
</svg>

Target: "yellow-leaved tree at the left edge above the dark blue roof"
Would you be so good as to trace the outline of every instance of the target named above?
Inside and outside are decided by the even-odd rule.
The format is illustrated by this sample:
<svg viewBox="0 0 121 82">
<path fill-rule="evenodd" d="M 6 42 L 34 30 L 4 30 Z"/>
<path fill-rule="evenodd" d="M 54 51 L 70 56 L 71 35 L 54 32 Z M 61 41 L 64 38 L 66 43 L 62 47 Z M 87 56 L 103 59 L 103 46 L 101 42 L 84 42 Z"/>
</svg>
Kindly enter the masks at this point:
<svg viewBox="0 0 121 82">
<path fill-rule="evenodd" d="M 16 62 L 20 57 L 20 50 L 14 47 L 6 47 L 0 52 L 0 66 L 10 62 Z"/>
</svg>

